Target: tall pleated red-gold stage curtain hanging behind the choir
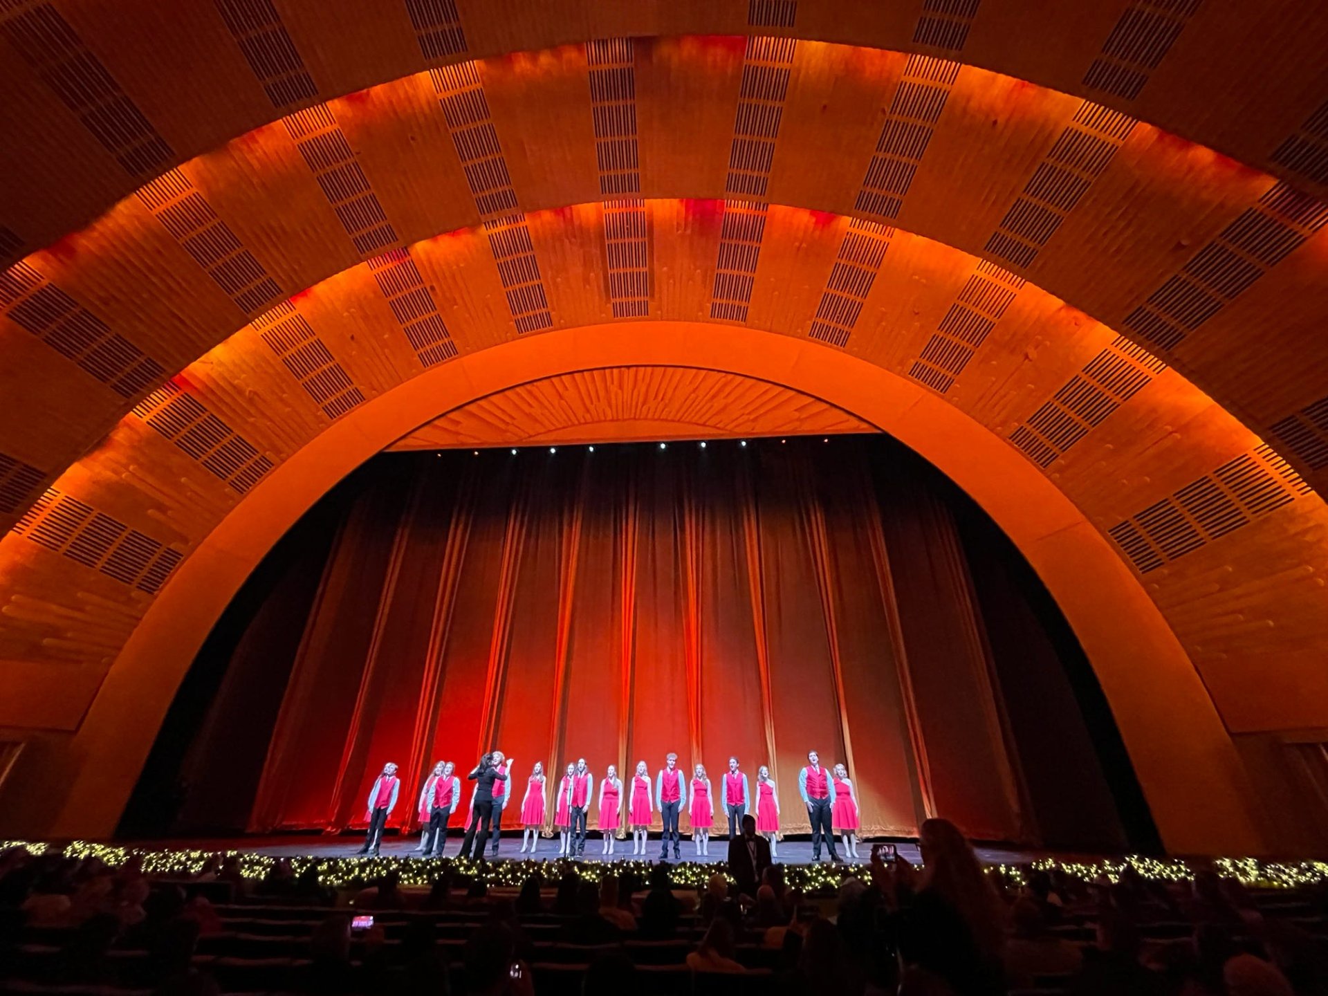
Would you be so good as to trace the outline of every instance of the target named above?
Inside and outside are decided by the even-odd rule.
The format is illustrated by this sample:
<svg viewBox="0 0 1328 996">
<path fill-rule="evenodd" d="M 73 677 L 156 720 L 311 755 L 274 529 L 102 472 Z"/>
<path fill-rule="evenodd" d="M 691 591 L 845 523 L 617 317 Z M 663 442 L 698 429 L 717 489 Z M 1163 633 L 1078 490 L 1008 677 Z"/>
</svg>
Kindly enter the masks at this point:
<svg viewBox="0 0 1328 996">
<path fill-rule="evenodd" d="M 390 825 L 413 830 L 434 761 L 463 778 L 497 748 L 509 827 L 537 761 L 551 795 L 579 757 L 598 788 L 610 764 L 653 781 L 676 752 L 716 791 L 730 754 L 753 791 L 769 765 L 799 833 L 817 749 L 849 768 L 865 834 L 940 814 L 1027 837 L 955 523 L 910 461 L 867 446 L 380 458 L 288 620 L 303 636 L 248 829 L 361 826 L 394 761 Z"/>
</svg>

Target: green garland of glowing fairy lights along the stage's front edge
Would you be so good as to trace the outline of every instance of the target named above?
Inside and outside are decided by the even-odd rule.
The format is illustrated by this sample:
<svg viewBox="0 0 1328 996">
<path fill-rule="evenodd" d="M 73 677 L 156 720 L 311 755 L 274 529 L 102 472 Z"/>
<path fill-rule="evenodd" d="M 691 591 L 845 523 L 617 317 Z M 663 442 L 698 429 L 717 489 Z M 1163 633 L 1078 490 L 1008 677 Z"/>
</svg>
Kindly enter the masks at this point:
<svg viewBox="0 0 1328 996">
<path fill-rule="evenodd" d="M 652 863 L 627 858 L 614 862 L 575 861 L 499 861 L 474 862 L 461 858 L 397 858 L 397 857 L 292 857 L 276 858 L 254 851 L 205 851 L 177 849 L 120 847 L 116 845 L 74 841 L 64 847 L 28 841 L 3 841 L 0 850 L 25 847 L 32 854 L 57 851 L 68 858 L 98 858 L 110 867 L 120 867 L 129 861 L 138 861 L 145 874 L 170 878 L 197 875 L 215 861 L 218 855 L 239 861 L 240 875 L 248 879 L 263 879 L 271 874 L 280 861 L 286 861 L 296 876 L 312 871 L 319 884 L 332 888 L 364 886 L 396 872 L 402 886 L 432 886 L 440 878 L 452 875 L 470 880 L 482 880 L 490 888 L 519 888 L 533 875 L 546 880 L 556 879 L 567 870 L 575 871 L 583 879 L 598 882 L 604 875 L 635 875 L 643 882 L 648 878 Z M 1219 858 L 1204 862 L 1222 878 L 1236 879 L 1252 888 L 1299 888 L 1328 882 L 1328 862 L 1266 862 L 1258 858 Z M 1029 870 L 1057 871 L 1082 882 L 1116 883 L 1126 869 L 1143 879 L 1154 882 L 1189 882 L 1195 876 L 1195 866 L 1179 858 L 1149 858 L 1126 855 L 1122 858 L 1101 858 L 1090 862 L 1040 858 L 1028 866 L 992 865 L 987 871 L 997 875 L 1008 886 L 1021 886 Z M 714 875 L 722 875 L 722 866 L 700 862 L 680 862 L 669 865 L 669 882 L 679 888 L 704 888 Z M 785 878 L 790 887 L 803 892 L 833 892 L 849 878 L 867 879 L 870 871 L 862 865 L 789 865 Z"/>
</svg>

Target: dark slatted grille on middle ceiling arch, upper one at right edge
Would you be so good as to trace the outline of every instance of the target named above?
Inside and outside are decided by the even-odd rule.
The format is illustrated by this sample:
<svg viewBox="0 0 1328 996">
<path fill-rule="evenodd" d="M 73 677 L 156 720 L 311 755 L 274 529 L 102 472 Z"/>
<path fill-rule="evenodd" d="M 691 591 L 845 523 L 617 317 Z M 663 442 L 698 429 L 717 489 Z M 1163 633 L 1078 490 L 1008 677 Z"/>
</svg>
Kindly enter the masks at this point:
<svg viewBox="0 0 1328 996">
<path fill-rule="evenodd" d="M 1161 349 L 1174 349 L 1325 220 L 1328 206 L 1278 183 L 1126 315 L 1123 327 Z"/>
</svg>

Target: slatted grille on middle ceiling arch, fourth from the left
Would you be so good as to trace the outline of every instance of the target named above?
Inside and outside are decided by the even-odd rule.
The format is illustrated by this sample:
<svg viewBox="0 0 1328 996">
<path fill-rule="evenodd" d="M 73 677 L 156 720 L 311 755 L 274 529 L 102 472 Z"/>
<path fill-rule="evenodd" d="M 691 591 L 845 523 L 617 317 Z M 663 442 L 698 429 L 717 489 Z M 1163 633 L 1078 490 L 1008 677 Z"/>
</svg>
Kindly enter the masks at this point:
<svg viewBox="0 0 1328 996">
<path fill-rule="evenodd" d="M 283 118 L 282 124 L 295 139 L 295 147 L 355 243 L 356 252 L 372 256 L 400 242 L 328 106 L 320 104 L 301 110 Z"/>
</svg>

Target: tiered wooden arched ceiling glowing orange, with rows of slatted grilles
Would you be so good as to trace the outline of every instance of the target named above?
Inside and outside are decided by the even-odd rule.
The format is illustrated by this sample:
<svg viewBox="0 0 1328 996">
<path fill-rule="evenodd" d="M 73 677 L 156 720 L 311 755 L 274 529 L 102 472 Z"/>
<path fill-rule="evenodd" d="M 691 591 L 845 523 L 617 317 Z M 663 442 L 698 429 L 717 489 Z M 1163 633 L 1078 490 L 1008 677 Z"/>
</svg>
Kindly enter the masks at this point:
<svg viewBox="0 0 1328 996">
<path fill-rule="evenodd" d="M 1328 726 L 1316 5 L 11 0 L 0 39 L 0 725 L 77 726 L 190 552 L 376 397 L 703 321 L 943 398 L 1231 729 Z"/>
</svg>

